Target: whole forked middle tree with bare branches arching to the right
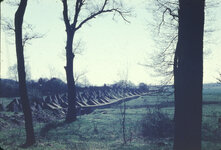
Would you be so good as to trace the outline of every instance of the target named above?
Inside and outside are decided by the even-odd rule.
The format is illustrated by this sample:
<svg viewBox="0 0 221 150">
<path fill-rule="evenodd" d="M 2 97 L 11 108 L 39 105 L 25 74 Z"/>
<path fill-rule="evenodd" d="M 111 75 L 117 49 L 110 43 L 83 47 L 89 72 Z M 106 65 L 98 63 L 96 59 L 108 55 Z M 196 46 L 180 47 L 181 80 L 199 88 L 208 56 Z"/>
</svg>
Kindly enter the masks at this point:
<svg viewBox="0 0 221 150">
<path fill-rule="evenodd" d="M 74 3 L 73 1 L 70 1 Z M 75 53 L 73 52 L 73 42 L 76 31 L 78 31 L 85 23 L 94 19 L 95 17 L 104 14 L 104 13 L 118 13 L 125 21 L 125 15 L 129 14 L 128 10 L 124 10 L 122 5 L 117 3 L 116 1 L 112 1 L 110 3 L 109 0 L 104 0 L 103 3 L 100 1 L 93 1 L 89 0 L 75 0 L 75 8 L 70 12 L 74 12 L 73 19 L 68 14 L 68 3 L 67 0 L 62 0 L 63 4 L 63 20 L 65 23 L 66 34 L 67 34 L 67 41 L 66 41 L 66 78 L 67 78 L 67 86 L 68 86 L 68 112 L 66 115 L 66 122 L 73 122 L 76 120 L 76 87 L 75 87 L 75 80 L 73 75 L 73 61 L 75 57 Z M 112 4 L 112 6 L 110 6 Z M 72 4 L 74 5 L 74 4 Z M 89 12 L 87 17 L 85 16 L 85 12 L 82 10 L 87 10 Z M 79 17 L 80 16 L 80 17 Z M 79 21 L 80 20 L 80 21 Z M 128 22 L 128 21 L 127 21 Z"/>
</svg>

